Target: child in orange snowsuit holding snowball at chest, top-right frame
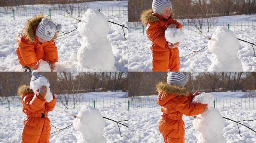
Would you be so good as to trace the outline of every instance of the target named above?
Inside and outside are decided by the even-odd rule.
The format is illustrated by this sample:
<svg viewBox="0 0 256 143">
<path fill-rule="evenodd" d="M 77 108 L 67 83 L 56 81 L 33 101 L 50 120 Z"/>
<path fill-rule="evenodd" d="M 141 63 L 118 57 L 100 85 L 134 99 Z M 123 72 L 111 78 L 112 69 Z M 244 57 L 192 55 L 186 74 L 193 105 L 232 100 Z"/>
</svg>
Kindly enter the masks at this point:
<svg viewBox="0 0 256 143">
<path fill-rule="evenodd" d="M 142 22 L 146 24 L 147 37 L 152 41 L 152 71 L 179 71 L 179 42 L 168 43 L 164 32 L 167 28 L 182 29 L 182 24 L 173 19 L 169 0 L 153 0 L 152 8 L 141 15 Z"/>
</svg>

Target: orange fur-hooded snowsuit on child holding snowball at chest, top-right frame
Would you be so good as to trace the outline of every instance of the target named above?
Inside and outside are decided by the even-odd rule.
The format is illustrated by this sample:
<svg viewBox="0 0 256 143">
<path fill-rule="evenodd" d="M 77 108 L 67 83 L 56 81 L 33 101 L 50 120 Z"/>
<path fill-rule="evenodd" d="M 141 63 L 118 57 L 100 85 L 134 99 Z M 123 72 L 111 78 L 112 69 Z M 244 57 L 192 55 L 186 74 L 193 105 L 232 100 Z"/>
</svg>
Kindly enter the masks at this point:
<svg viewBox="0 0 256 143">
<path fill-rule="evenodd" d="M 179 49 L 178 47 L 168 48 L 164 32 L 172 23 L 179 29 L 182 29 L 182 24 L 172 16 L 165 20 L 157 13 L 153 13 L 152 9 L 144 11 L 141 14 L 141 20 L 146 24 L 147 37 L 152 41 L 150 47 L 153 56 L 152 71 L 179 71 Z"/>
</svg>

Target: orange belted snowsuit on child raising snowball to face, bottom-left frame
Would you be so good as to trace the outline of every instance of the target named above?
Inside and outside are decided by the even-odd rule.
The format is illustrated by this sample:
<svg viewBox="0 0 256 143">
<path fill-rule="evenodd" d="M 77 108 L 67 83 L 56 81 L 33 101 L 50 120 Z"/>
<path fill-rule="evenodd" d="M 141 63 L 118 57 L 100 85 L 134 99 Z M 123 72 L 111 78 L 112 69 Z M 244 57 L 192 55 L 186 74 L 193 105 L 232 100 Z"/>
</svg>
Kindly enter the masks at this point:
<svg viewBox="0 0 256 143">
<path fill-rule="evenodd" d="M 53 95 L 53 100 L 48 103 L 26 85 L 19 87 L 18 94 L 21 96 L 22 111 L 27 114 L 21 143 L 49 143 L 51 125 L 47 114 L 55 107 L 55 96 Z"/>
</svg>

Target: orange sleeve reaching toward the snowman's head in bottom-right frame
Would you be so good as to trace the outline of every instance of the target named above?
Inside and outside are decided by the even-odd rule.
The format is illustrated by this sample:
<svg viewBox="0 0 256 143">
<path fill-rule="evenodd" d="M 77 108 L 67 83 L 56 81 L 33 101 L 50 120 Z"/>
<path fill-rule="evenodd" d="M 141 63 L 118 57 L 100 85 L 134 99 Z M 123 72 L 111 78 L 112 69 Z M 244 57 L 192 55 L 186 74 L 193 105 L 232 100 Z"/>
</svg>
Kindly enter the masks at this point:
<svg viewBox="0 0 256 143">
<path fill-rule="evenodd" d="M 204 112 L 204 105 L 192 103 L 187 96 L 184 96 L 177 101 L 175 109 L 186 116 L 195 116 Z"/>
</svg>

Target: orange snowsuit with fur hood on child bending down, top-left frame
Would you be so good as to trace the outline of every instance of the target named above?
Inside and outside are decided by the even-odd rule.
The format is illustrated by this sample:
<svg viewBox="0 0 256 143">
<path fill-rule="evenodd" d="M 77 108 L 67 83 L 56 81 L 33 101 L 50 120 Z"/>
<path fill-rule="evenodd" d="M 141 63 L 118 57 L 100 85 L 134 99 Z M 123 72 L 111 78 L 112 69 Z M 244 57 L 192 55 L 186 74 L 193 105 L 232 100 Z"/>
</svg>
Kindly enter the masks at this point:
<svg viewBox="0 0 256 143">
<path fill-rule="evenodd" d="M 54 42 L 57 39 L 57 33 L 51 41 L 40 43 L 37 40 L 36 28 L 44 17 L 40 14 L 29 19 L 22 33 L 17 36 L 15 51 L 22 66 L 32 67 L 40 59 L 49 63 L 58 62 L 58 51 Z"/>
</svg>

